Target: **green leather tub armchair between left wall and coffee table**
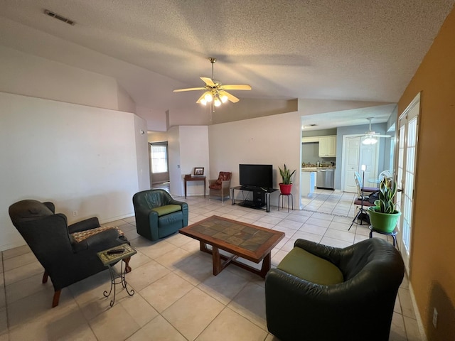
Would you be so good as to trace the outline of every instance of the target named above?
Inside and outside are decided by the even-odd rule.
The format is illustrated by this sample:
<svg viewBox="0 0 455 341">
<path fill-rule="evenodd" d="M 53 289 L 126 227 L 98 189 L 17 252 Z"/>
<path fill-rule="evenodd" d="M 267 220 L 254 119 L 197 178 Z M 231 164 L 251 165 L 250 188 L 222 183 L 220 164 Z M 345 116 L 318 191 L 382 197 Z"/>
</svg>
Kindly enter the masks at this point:
<svg viewBox="0 0 455 341">
<path fill-rule="evenodd" d="M 188 204 L 166 190 L 143 190 L 133 195 L 137 233 L 156 240 L 188 225 Z"/>
</svg>

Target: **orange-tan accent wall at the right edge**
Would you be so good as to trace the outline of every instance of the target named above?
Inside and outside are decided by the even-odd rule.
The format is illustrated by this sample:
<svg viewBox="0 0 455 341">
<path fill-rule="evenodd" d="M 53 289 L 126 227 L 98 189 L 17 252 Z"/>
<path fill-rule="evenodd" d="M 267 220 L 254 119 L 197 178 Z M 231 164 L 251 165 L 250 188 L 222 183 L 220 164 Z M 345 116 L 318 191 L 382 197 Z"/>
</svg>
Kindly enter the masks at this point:
<svg viewBox="0 0 455 341">
<path fill-rule="evenodd" d="M 455 340 L 455 9 L 402 94 L 399 115 L 418 92 L 410 283 L 428 340 Z"/>
</svg>

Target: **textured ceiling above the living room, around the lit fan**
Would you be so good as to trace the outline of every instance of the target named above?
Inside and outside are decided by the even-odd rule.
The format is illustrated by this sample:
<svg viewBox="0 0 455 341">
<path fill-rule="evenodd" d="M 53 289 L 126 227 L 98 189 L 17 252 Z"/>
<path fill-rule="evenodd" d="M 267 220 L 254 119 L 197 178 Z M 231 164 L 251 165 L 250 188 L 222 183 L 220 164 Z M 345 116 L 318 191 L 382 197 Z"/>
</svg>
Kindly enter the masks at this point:
<svg viewBox="0 0 455 341">
<path fill-rule="evenodd" d="M 2 0 L 0 44 L 116 77 L 142 107 L 245 97 L 397 102 L 455 0 Z M 75 21 L 75 26 L 43 14 Z M 57 38 L 55 38 L 57 37 Z M 61 39 L 58 39 L 61 38 Z M 190 103 L 188 103 L 188 101 Z"/>
</svg>

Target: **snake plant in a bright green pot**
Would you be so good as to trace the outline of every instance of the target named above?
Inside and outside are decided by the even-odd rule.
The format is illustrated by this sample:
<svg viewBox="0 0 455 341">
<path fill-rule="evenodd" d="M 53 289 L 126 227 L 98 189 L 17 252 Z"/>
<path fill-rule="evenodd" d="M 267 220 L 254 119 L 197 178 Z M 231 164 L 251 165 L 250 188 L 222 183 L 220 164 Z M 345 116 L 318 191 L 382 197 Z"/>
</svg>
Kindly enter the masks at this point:
<svg viewBox="0 0 455 341">
<path fill-rule="evenodd" d="M 393 232 L 401 212 L 395 208 L 393 198 L 397 194 L 397 183 L 390 178 L 382 178 L 379 184 L 379 198 L 375 206 L 368 207 L 370 224 L 382 232 Z"/>
</svg>

